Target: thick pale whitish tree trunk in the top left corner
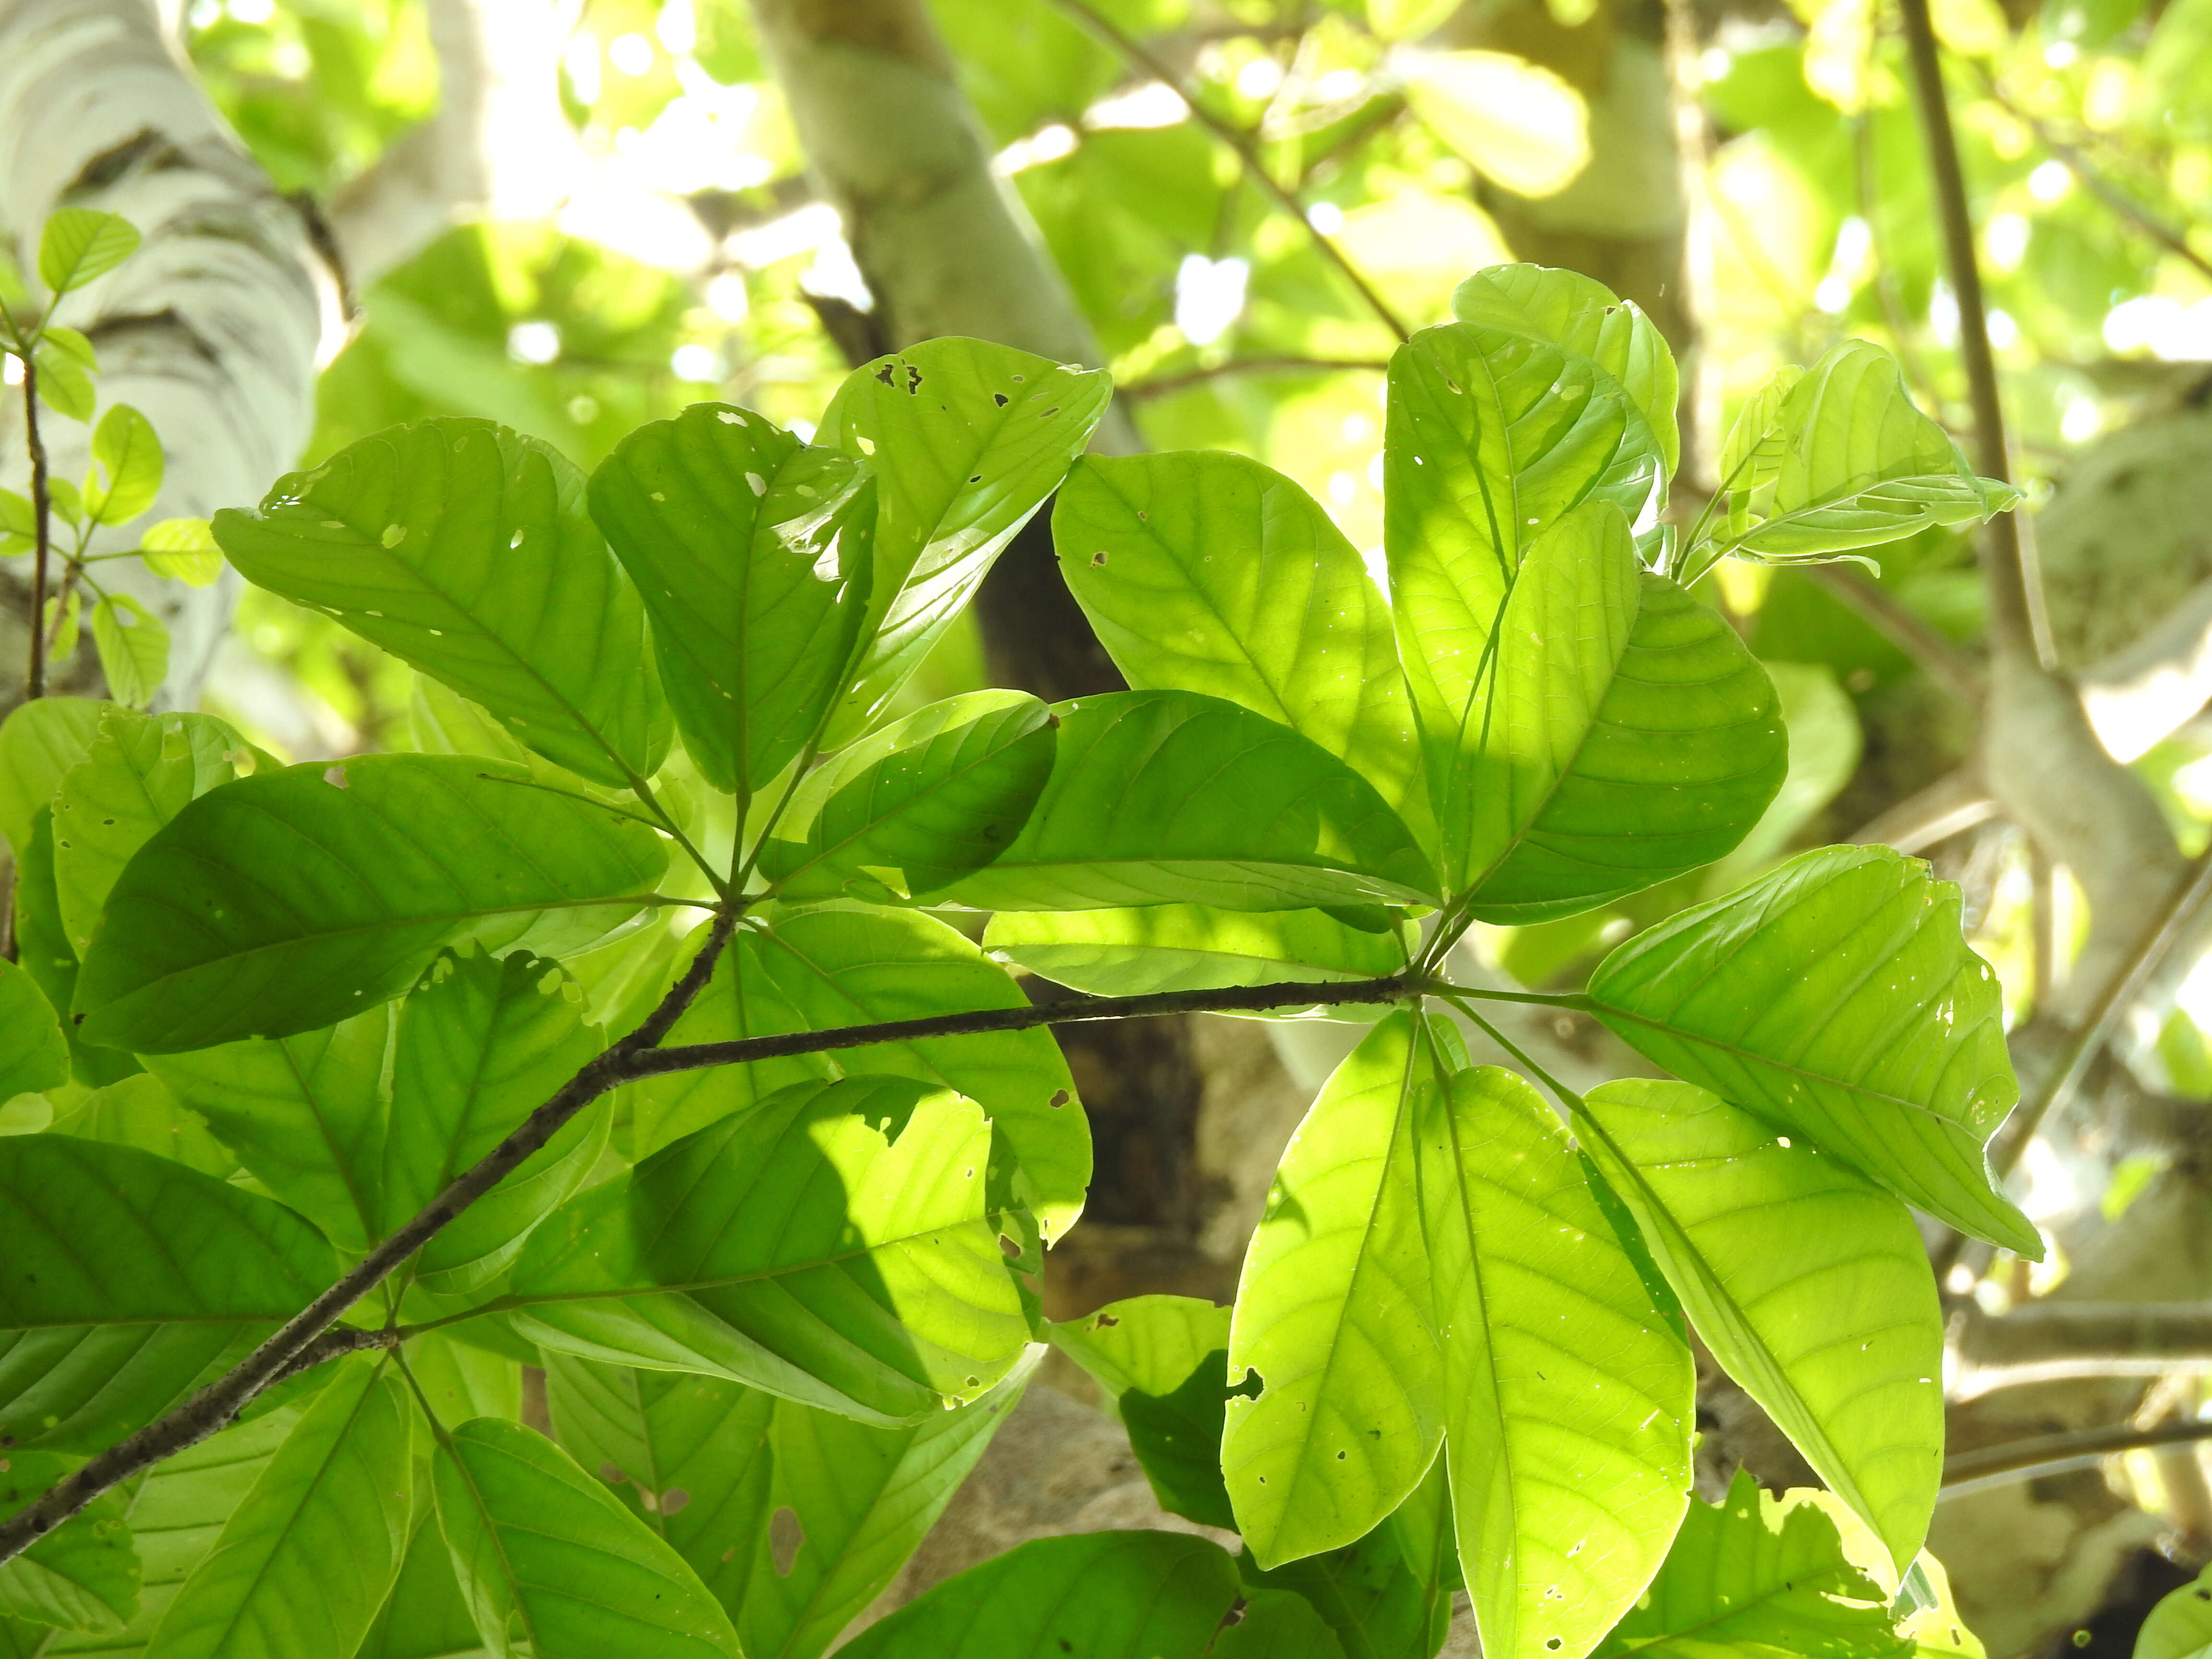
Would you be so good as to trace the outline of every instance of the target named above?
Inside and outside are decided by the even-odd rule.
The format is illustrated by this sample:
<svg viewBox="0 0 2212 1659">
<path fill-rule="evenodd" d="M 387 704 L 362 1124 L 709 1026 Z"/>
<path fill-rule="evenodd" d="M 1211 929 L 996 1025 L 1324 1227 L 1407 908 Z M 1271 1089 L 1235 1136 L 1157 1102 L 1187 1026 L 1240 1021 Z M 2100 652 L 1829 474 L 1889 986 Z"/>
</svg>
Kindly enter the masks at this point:
<svg viewBox="0 0 2212 1659">
<path fill-rule="evenodd" d="M 100 352 L 100 403 L 153 420 L 168 471 L 153 518 L 250 504 L 314 425 L 316 361 L 343 338 L 341 290 L 310 215 L 285 201 L 192 82 L 153 0 L 0 0 L 0 226 L 35 272 L 38 232 L 62 206 L 131 219 L 146 246 L 64 301 L 60 321 Z M 44 296 L 40 296 L 42 301 Z M 22 396 L 0 411 L 0 476 L 27 473 Z M 88 434 L 40 411 L 53 467 L 82 478 Z M 104 531 L 95 546 L 133 546 Z M 237 577 L 188 588 L 137 560 L 102 584 L 159 613 L 173 635 L 168 706 L 190 706 L 221 639 Z M 0 613 L 0 706 L 22 697 L 29 571 L 13 560 Z M 91 646 L 66 688 L 97 686 Z"/>
</svg>

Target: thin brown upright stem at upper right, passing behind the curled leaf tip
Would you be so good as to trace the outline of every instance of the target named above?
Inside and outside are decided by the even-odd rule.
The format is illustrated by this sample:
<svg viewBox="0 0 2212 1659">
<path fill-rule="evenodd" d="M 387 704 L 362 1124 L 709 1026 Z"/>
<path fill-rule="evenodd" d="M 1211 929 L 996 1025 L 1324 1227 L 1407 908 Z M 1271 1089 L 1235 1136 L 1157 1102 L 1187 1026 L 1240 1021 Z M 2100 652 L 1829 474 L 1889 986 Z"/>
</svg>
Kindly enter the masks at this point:
<svg viewBox="0 0 2212 1659">
<path fill-rule="evenodd" d="M 1989 305 L 1982 299 L 1982 268 L 1973 252 L 1973 208 L 1966 201 L 1966 173 L 1958 161 L 1958 135 L 1951 131 L 1951 106 L 1942 86 L 1942 55 L 1936 46 L 1936 24 L 1929 0 L 1898 0 L 1905 15 L 1905 46 L 1913 71 L 1913 104 L 1920 108 L 1920 135 L 1929 150 L 1929 173 L 1936 184 L 1936 219 L 1942 230 L 1944 270 L 1958 301 L 1958 356 L 1966 369 L 1966 396 L 1973 407 L 1975 469 L 1986 478 L 2011 478 L 2004 445 L 2004 400 L 1997 396 L 1997 358 L 1989 347 Z M 2051 668 L 2057 653 L 2051 646 L 2051 619 L 2044 615 L 2042 584 L 2033 553 L 2020 538 L 2011 513 L 1997 513 L 1982 531 L 1982 573 L 1989 582 L 1989 639 L 2000 655 Z"/>
</svg>

